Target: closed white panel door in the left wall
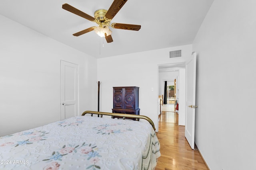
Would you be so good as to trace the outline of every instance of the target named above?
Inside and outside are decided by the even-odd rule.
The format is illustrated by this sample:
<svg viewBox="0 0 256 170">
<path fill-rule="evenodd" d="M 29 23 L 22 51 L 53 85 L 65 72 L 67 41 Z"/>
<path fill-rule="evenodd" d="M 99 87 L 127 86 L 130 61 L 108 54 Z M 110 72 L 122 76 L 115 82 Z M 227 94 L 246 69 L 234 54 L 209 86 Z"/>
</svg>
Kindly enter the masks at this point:
<svg viewBox="0 0 256 170">
<path fill-rule="evenodd" d="M 78 65 L 60 61 L 61 120 L 78 115 Z"/>
</svg>

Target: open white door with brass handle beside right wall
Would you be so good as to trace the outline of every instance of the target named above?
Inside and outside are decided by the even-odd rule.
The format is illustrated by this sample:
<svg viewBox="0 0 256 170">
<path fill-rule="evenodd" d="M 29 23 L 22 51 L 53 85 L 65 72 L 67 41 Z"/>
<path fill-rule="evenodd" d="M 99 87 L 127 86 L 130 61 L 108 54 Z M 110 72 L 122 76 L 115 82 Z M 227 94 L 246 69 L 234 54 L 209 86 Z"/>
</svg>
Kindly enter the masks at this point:
<svg viewBox="0 0 256 170">
<path fill-rule="evenodd" d="M 192 149 L 195 149 L 195 106 L 196 103 L 196 53 L 186 62 L 186 115 L 185 137 Z"/>
</svg>

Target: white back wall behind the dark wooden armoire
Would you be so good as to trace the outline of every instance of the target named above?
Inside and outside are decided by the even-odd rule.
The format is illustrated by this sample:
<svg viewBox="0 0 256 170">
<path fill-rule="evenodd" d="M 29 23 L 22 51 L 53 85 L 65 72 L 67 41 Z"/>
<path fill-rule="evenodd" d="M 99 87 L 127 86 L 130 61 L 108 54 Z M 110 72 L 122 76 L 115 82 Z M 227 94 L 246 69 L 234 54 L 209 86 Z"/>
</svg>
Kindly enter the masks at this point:
<svg viewBox="0 0 256 170">
<path fill-rule="evenodd" d="M 183 57 L 170 59 L 169 52 L 177 49 L 182 49 Z M 150 117 L 158 131 L 158 65 L 184 62 L 191 53 L 192 45 L 184 45 L 98 59 L 100 111 L 112 112 L 113 87 L 138 86 L 140 115 Z"/>
</svg>

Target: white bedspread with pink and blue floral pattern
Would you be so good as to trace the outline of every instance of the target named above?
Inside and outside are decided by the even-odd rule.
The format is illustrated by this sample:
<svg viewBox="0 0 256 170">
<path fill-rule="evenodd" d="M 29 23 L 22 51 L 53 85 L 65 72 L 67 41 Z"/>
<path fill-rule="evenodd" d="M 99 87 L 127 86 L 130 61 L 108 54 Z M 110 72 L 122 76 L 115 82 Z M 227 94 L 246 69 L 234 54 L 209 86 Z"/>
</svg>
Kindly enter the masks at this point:
<svg viewBox="0 0 256 170">
<path fill-rule="evenodd" d="M 152 170 L 159 150 L 148 122 L 76 116 L 0 137 L 0 169 Z"/>
</svg>

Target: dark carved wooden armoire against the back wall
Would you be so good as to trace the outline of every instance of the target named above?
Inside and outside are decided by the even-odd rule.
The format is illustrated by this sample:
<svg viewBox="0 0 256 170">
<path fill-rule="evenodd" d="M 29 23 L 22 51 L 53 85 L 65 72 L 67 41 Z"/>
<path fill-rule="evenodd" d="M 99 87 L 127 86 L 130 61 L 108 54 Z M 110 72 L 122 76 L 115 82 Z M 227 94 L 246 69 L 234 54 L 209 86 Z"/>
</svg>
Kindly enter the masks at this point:
<svg viewBox="0 0 256 170">
<path fill-rule="evenodd" d="M 139 87 L 113 87 L 112 113 L 140 115 Z"/>
</svg>

